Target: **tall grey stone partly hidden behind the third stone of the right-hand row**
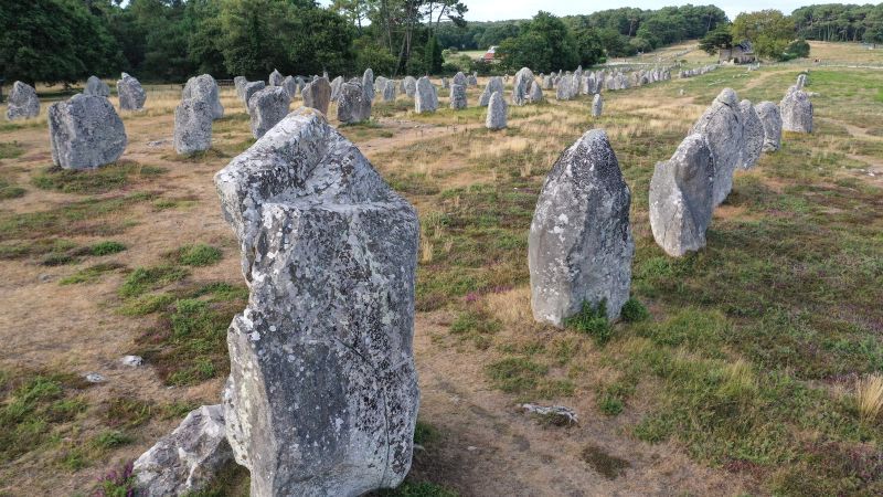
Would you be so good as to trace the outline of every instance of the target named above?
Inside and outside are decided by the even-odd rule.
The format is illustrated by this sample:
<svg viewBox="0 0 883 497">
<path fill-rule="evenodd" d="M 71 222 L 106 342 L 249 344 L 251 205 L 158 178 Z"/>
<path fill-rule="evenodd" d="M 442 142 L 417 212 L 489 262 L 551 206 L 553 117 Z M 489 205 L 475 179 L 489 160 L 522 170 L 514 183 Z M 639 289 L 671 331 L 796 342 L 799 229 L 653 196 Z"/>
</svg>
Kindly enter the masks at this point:
<svg viewBox="0 0 883 497">
<path fill-rule="evenodd" d="M 693 125 L 709 140 L 714 157 L 714 205 L 720 205 L 733 190 L 733 173 L 745 152 L 745 137 L 738 97 L 724 88 Z"/>
</svg>

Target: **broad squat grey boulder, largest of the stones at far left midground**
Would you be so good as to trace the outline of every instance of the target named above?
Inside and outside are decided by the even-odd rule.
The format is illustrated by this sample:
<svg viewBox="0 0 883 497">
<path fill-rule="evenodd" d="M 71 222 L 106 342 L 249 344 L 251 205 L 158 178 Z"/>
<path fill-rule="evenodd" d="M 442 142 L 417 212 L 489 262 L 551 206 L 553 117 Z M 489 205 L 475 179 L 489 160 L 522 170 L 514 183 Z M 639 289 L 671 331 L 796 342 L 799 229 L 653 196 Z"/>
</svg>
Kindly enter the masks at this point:
<svg viewBox="0 0 883 497">
<path fill-rule="evenodd" d="M 116 162 L 128 138 L 123 119 L 103 96 L 77 94 L 49 107 L 52 161 L 64 169 Z"/>
</svg>

